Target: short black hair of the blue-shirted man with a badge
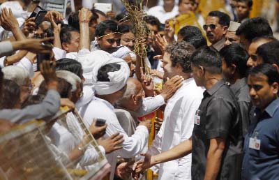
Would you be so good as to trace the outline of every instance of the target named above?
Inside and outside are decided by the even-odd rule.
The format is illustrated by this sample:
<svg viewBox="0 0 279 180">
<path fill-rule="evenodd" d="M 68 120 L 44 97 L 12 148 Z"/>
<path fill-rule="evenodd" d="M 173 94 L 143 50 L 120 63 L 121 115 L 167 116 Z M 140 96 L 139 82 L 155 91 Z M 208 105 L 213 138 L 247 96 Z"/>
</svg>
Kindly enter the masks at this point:
<svg viewBox="0 0 279 180">
<path fill-rule="evenodd" d="M 258 66 L 252 68 L 249 72 L 249 75 L 258 75 L 263 74 L 266 75 L 268 80 L 267 82 L 269 85 L 273 84 L 274 82 L 279 83 L 279 73 L 274 66 L 270 63 L 262 63 Z"/>
</svg>

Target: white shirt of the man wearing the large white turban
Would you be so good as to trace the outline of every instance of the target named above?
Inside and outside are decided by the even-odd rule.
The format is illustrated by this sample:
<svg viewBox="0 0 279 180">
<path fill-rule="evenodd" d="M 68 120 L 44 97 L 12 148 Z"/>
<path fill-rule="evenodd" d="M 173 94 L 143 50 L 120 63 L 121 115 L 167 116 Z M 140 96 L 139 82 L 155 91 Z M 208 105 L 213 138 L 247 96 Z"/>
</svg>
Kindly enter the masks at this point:
<svg viewBox="0 0 279 180">
<path fill-rule="evenodd" d="M 142 152 L 148 142 L 149 132 L 145 126 L 137 126 L 135 134 L 128 137 L 116 117 L 114 107 L 106 100 L 97 97 L 93 97 L 88 105 L 80 108 L 79 112 L 84 118 L 84 123 L 87 127 L 91 125 L 94 118 L 105 119 L 107 123 L 105 138 L 118 132 L 123 135 L 123 148 L 106 155 L 107 161 L 112 165 L 110 173 L 110 179 L 112 180 L 117 156 L 132 158 Z"/>
</svg>

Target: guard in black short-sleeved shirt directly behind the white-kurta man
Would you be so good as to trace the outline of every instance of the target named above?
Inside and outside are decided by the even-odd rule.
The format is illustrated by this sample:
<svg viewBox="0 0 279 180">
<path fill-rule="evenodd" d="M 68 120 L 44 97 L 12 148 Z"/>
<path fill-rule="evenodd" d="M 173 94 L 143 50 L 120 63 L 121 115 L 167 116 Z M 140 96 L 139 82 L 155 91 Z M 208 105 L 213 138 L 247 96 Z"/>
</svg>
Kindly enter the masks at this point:
<svg viewBox="0 0 279 180">
<path fill-rule="evenodd" d="M 197 86 L 206 89 L 194 119 L 192 179 L 241 179 L 241 115 L 223 80 L 220 55 L 204 47 L 194 52 L 191 66 Z"/>
</svg>

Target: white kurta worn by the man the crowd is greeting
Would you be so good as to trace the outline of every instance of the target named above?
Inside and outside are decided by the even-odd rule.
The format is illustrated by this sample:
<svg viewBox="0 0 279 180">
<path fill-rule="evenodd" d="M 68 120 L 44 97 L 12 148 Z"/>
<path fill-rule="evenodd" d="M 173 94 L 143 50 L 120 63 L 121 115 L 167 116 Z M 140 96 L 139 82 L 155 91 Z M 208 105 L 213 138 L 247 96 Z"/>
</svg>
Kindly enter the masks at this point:
<svg viewBox="0 0 279 180">
<path fill-rule="evenodd" d="M 183 86 L 167 102 L 163 125 L 149 148 L 149 153 L 167 151 L 192 136 L 195 112 L 202 97 L 203 90 L 197 87 L 193 78 L 184 80 Z M 160 148 L 158 149 L 158 147 Z M 191 160 L 192 156 L 189 154 L 183 158 L 160 164 L 159 179 L 191 179 Z"/>
</svg>

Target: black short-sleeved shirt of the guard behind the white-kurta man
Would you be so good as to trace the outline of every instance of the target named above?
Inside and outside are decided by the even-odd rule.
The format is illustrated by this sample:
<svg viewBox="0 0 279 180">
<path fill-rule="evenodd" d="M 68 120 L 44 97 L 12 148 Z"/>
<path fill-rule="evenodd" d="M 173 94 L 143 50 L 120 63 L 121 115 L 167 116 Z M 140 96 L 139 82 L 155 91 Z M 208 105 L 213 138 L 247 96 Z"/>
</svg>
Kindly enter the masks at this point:
<svg viewBox="0 0 279 180">
<path fill-rule="evenodd" d="M 241 179 L 242 125 L 236 97 L 224 80 L 204 91 L 193 130 L 192 179 L 204 179 L 210 140 L 225 139 L 225 149 L 217 179 Z M 199 124 L 199 125 L 198 125 Z"/>
</svg>

